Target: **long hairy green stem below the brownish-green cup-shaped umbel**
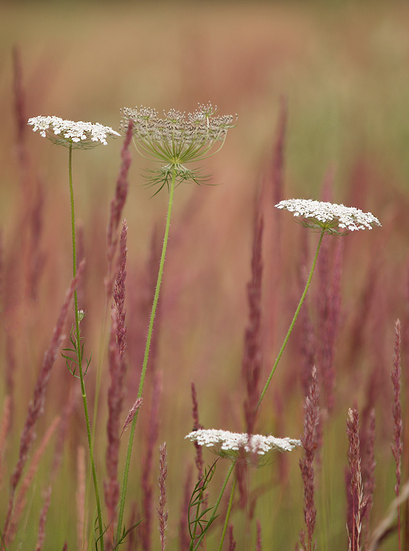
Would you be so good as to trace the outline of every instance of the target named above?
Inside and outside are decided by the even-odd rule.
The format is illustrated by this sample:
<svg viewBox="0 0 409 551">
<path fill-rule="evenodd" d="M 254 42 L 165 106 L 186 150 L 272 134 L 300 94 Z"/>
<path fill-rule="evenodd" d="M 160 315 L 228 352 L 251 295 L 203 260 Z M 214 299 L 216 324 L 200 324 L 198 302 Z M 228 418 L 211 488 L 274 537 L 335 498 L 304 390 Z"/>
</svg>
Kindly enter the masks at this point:
<svg viewBox="0 0 409 551">
<path fill-rule="evenodd" d="M 152 339 L 152 332 L 153 332 L 153 329 L 154 329 L 156 307 L 158 306 L 160 284 L 162 282 L 163 267 L 165 265 L 167 240 L 169 238 L 169 227 L 170 227 L 170 220 L 171 220 L 171 213 L 172 213 L 172 205 L 173 205 L 173 202 L 174 202 L 175 182 L 176 182 L 176 171 L 174 171 L 174 174 L 172 174 L 171 185 L 170 185 L 170 189 L 169 189 L 169 203 L 168 203 L 168 207 L 167 207 L 165 236 L 163 238 L 162 255 L 160 256 L 158 280 L 156 281 L 154 303 L 152 304 L 151 317 L 149 319 L 149 329 L 148 329 L 146 346 L 145 346 L 145 355 L 143 357 L 142 371 L 140 373 L 138 398 L 140 398 L 142 396 L 142 393 L 143 393 L 143 384 L 145 383 L 145 375 L 146 375 L 146 370 L 147 370 L 147 362 L 148 362 L 148 358 L 149 358 L 149 350 L 151 348 L 151 339 Z M 131 429 L 129 430 L 129 442 L 128 442 L 128 449 L 127 449 L 127 457 L 126 457 L 126 460 L 125 460 L 125 470 L 124 470 L 124 473 L 123 473 L 123 484 L 122 484 L 122 490 L 121 490 L 121 494 L 120 494 L 120 503 L 119 503 L 119 512 L 118 512 L 118 526 L 116 528 L 116 541 L 117 542 L 120 541 L 120 534 L 121 534 L 121 531 L 122 531 L 123 510 L 124 510 L 124 507 L 125 507 L 125 497 L 126 497 L 126 493 L 127 493 L 129 466 L 131 464 L 132 445 L 134 443 L 134 433 L 135 433 L 137 419 L 138 419 L 138 410 L 136 410 L 135 417 L 132 420 Z"/>
</svg>

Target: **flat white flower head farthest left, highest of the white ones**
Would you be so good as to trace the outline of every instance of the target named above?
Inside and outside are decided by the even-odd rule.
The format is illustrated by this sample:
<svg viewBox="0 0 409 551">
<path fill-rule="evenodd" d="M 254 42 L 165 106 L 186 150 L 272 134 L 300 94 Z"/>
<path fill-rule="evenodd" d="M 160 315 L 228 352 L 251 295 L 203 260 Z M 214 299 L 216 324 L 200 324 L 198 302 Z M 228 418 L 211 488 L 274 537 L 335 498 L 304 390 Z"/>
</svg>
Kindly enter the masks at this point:
<svg viewBox="0 0 409 551">
<path fill-rule="evenodd" d="M 65 147 L 94 147 L 98 143 L 107 145 L 107 136 L 120 136 L 109 126 L 83 121 L 66 121 L 58 116 L 34 116 L 28 119 L 34 132 L 43 138 Z"/>
</svg>

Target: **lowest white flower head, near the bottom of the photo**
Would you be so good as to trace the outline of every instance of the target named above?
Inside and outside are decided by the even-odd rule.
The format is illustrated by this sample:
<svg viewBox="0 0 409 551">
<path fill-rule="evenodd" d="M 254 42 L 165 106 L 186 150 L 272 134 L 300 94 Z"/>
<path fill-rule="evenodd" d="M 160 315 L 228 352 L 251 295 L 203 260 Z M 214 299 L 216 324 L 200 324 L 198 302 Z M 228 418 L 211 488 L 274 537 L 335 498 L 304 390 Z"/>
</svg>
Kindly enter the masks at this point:
<svg viewBox="0 0 409 551">
<path fill-rule="evenodd" d="M 231 433 L 229 430 L 200 429 L 193 430 L 185 438 L 197 442 L 199 446 L 210 448 L 220 457 L 237 459 L 240 452 L 251 464 L 259 464 L 255 458 L 263 459 L 264 456 L 274 450 L 291 452 L 296 446 L 301 446 L 301 441 L 293 438 L 276 438 L 274 436 L 247 435 L 245 433 Z"/>
</svg>

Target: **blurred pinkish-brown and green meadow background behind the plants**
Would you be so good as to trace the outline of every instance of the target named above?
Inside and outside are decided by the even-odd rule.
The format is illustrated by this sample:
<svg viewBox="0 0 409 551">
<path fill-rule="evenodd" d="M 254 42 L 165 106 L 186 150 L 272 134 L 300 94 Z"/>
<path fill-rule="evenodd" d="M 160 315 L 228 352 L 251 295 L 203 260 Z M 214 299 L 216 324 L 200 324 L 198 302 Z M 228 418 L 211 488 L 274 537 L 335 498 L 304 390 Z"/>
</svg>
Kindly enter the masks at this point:
<svg viewBox="0 0 409 551">
<path fill-rule="evenodd" d="M 246 286 L 251 278 L 255 209 L 264 218 L 261 391 L 302 293 L 318 237 L 297 225 L 291 214 L 274 208 L 278 200 L 294 197 L 343 202 L 373 212 L 383 225 L 345 238 L 324 238 L 303 315 L 256 426 L 260 434 L 300 437 L 303 381 L 311 362 L 317 363 L 318 373 L 323 368 L 320 350 L 328 340 L 326 332 L 332 331 L 329 355 L 335 394 L 328 410 L 322 388 L 325 422 L 316 470 L 315 535 L 320 550 L 348 549 L 346 418 L 354 404 L 362 430 L 369 411 L 375 408 L 376 413 L 370 530 L 379 525 L 395 497 L 390 373 L 398 318 L 402 476 L 403 481 L 408 478 L 408 3 L 37 1 L 3 2 L 0 11 L 0 398 L 3 402 L 9 395 L 12 400 L 10 428 L 1 450 L 1 526 L 28 402 L 72 272 L 67 151 L 33 134 L 21 124 L 22 116 L 56 115 L 118 129 L 120 107 L 189 112 L 198 102 L 211 101 L 219 114 L 237 113 L 238 125 L 229 131 L 222 151 L 202 163 L 216 185 L 176 189 L 125 509 L 128 524 L 132 511 L 136 521 L 149 517 L 146 500 L 151 487 L 151 540 L 147 543 L 138 536 L 136 528 L 135 540 L 123 548 L 160 549 L 155 511 L 158 445 L 163 441 L 168 449 L 167 549 L 186 548 L 180 537 L 180 530 L 186 529 L 180 528 L 183 503 L 197 478 L 196 451 L 184 439 L 193 426 L 192 382 L 205 428 L 245 430 L 242 357 L 249 324 Z M 101 340 L 106 228 L 122 145 L 118 138 L 73 156 L 78 242 L 87 262 L 79 291 L 80 306 L 87 311 L 82 332 L 88 353 L 93 351 L 85 381 L 91 408 L 96 389 L 100 392 L 92 425 L 101 484 L 109 385 L 107 333 Z M 151 197 L 153 191 L 143 187 L 142 176 L 149 165 L 133 146 L 131 152 L 123 213 L 128 225 L 124 419 L 138 388 L 167 209 L 167 191 Z M 334 313 L 337 299 L 340 306 Z M 69 331 L 67 325 L 65 333 Z M 77 450 L 87 448 L 87 440 L 75 389 L 78 381 L 58 357 L 33 448 L 56 415 L 65 415 L 68 424 L 53 481 L 44 550 L 62 550 L 65 542 L 70 551 L 81 548 Z M 74 406 L 67 414 L 70 400 Z M 59 429 L 41 458 L 10 550 L 35 547 L 58 433 Z M 120 476 L 126 444 L 127 433 Z M 149 446 L 154 446 L 150 470 Z M 262 549 L 295 548 L 304 528 L 301 457 L 302 450 L 277 454 L 269 466 L 249 471 L 252 497 L 244 510 L 235 506 L 231 517 L 238 551 L 256 549 L 256 519 Z M 204 461 L 213 462 L 209 450 L 204 450 Z M 224 479 L 225 463 L 218 462 L 211 503 Z M 89 494 L 92 526 L 95 511 Z M 209 534 L 207 550 L 216 549 L 220 541 L 223 512 Z M 402 530 L 409 531 L 404 505 L 401 515 Z M 403 541 L 402 549 L 409 549 L 408 536 Z M 379 549 L 395 550 L 397 545 L 392 530 Z"/>
</svg>

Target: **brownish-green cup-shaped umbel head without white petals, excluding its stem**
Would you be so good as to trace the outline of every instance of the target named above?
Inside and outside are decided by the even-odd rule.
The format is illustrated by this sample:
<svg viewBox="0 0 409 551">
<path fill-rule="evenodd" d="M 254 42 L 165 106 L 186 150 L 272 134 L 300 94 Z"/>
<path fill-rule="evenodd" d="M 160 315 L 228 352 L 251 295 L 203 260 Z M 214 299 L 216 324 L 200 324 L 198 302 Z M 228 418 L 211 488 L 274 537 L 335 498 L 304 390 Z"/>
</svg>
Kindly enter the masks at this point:
<svg viewBox="0 0 409 551">
<path fill-rule="evenodd" d="M 140 106 L 131 109 L 123 107 L 122 129 L 134 121 L 134 142 L 138 152 L 145 158 L 164 163 L 159 169 L 149 171 L 150 185 L 158 184 L 160 189 L 171 182 L 176 175 L 178 183 L 193 181 L 206 183 L 208 176 L 202 176 L 200 169 L 187 169 L 185 165 L 202 160 L 217 153 L 223 146 L 227 130 L 233 128 L 233 116 L 215 116 L 217 107 L 207 103 L 198 104 L 193 113 L 171 109 L 159 118 L 151 107 Z M 156 193 L 158 193 L 158 191 Z"/>
</svg>

